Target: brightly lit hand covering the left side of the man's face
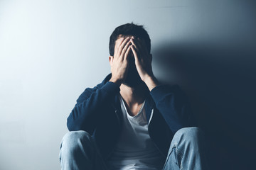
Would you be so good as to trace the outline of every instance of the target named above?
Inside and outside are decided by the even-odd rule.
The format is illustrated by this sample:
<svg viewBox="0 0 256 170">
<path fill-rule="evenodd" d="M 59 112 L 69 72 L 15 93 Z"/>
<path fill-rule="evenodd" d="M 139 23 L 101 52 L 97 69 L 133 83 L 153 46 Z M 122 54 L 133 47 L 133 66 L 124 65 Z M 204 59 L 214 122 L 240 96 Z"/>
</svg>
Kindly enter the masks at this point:
<svg viewBox="0 0 256 170">
<path fill-rule="evenodd" d="M 118 84 L 119 86 L 127 77 L 129 67 L 129 52 L 131 50 L 132 42 L 130 37 L 118 38 L 114 46 L 114 57 L 110 56 L 110 66 L 112 77 L 110 81 Z"/>
</svg>

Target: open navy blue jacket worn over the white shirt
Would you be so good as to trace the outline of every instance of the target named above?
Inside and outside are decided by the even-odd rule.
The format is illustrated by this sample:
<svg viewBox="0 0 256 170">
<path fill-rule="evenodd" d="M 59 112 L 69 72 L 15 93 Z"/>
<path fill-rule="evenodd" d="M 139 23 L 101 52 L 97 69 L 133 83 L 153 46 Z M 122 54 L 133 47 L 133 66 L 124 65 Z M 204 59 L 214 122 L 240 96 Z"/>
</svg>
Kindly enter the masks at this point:
<svg viewBox="0 0 256 170">
<path fill-rule="evenodd" d="M 86 88 L 67 119 L 69 131 L 85 130 L 92 135 L 104 159 L 111 154 L 122 125 L 120 88 L 109 81 L 111 77 L 110 73 L 102 83 Z M 161 84 L 148 92 L 144 107 L 149 136 L 166 158 L 174 133 L 195 125 L 194 119 L 188 98 L 177 84 Z"/>
</svg>

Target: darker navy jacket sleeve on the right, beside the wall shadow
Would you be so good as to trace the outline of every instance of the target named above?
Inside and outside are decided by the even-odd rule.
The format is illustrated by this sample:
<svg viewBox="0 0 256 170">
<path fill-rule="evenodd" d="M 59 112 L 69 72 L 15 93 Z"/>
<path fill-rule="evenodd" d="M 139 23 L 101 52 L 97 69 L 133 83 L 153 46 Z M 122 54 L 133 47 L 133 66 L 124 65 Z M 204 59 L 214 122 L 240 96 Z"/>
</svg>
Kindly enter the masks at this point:
<svg viewBox="0 0 256 170">
<path fill-rule="evenodd" d="M 172 132 L 196 125 L 188 97 L 177 84 L 161 84 L 151 89 L 150 94 Z"/>
</svg>

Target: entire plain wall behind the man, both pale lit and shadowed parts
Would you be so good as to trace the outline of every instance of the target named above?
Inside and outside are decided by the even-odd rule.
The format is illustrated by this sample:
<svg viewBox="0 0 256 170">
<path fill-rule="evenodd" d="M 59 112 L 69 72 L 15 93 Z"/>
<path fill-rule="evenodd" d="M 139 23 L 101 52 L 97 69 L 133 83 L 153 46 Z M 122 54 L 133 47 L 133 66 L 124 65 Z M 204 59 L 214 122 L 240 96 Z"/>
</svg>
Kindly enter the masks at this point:
<svg viewBox="0 0 256 170">
<path fill-rule="evenodd" d="M 151 36 L 156 77 L 191 98 L 213 169 L 249 168 L 255 11 L 244 0 L 1 0 L 0 169 L 60 169 L 66 118 L 110 73 L 110 34 L 132 21 Z"/>
</svg>

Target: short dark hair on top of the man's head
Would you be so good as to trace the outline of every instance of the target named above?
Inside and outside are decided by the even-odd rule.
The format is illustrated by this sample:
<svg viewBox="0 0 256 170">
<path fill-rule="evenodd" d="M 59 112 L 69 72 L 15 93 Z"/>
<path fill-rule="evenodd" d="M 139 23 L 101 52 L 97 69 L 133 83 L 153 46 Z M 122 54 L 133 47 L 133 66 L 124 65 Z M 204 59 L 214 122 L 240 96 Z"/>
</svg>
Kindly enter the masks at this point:
<svg viewBox="0 0 256 170">
<path fill-rule="evenodd" d="M 149 50 L 151 50 L 151 42 L 149 38 L 149 34 L 146 32 L 146 30 L 143 28 L 143 26 L 139 26 L 137 24 L 132 23 L 126 23 L 122 26 L 118 26 L 114 29 L 113 33 L 110 35 L 110 55 L 114 56 L 114 45 L 115 41 L 119 37 L 119 35 L 126 36 L 126 35 L 134 35 L 136 38 L 141 38 L 146 42 L 146 47 Z"/>
</svg>

